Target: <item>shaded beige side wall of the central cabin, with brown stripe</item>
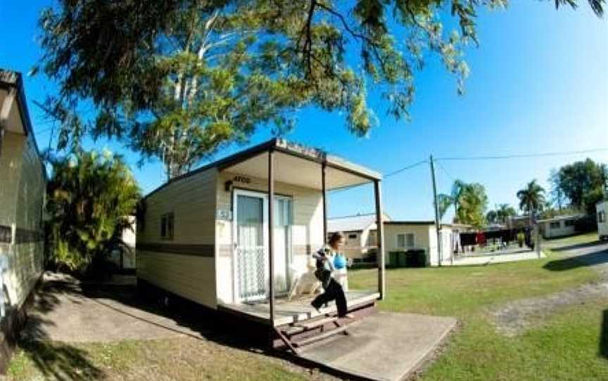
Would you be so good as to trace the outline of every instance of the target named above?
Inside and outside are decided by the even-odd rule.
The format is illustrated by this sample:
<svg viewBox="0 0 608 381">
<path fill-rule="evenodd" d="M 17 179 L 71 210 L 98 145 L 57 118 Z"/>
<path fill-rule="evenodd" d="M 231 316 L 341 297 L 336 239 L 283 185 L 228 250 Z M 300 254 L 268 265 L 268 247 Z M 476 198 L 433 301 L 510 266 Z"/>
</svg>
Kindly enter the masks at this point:
<svg viewBox="0 0 608 381">
<path fill-rule="evenodd" d="M 137 276 L 160 288 L 215 308 L 215 181 L 208 169 L 170 183 L 146 198 L 144 226 L 137 229 Z M 175 216 L 172 240 L 160 238 L 160 217 Z M 201 254 L 144 250 L 146 244 L 208 245 Z M 149 246 L 149 245 L 148 245 Z"/>
</svg>

